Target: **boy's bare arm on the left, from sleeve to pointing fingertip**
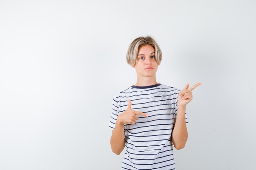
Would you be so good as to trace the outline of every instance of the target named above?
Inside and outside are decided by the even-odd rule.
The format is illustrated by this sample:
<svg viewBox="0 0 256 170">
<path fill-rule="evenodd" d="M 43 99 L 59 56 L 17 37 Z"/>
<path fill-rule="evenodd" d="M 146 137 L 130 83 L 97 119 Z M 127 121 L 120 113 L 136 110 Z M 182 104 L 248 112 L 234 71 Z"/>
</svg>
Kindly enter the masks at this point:
<svg viewBox="0 0 256 170">
<path fill-rule="evenodd" d="M 110 138 L 111 149 L 115 154 L 119 155 L 124 150 L 124 124 L 135 124 L 135 121 L 139 119 L 137 115 L 148 117 L 146 113 L 132 110 L 132 102 L 128 99 L 128 107 L 124 113 L 117 116 L 115 129 L 112 130 Z"/>
</svg>

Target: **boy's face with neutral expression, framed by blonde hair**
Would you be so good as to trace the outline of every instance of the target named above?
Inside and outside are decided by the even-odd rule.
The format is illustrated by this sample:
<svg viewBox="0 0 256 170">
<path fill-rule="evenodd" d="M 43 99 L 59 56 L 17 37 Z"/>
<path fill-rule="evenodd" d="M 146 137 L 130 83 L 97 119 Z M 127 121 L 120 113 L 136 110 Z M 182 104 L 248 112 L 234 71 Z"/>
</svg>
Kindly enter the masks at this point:
<svg viewBox="0 0 256 170">
<path fill-rule="evenodd" d="M 155 76 L 158 64 L 155 59 L 155 50 L 153 46 L 147 44 L 139 48 L 137 63 L 134 68 L 137 72 L 137 76 Z"/>
</svg>

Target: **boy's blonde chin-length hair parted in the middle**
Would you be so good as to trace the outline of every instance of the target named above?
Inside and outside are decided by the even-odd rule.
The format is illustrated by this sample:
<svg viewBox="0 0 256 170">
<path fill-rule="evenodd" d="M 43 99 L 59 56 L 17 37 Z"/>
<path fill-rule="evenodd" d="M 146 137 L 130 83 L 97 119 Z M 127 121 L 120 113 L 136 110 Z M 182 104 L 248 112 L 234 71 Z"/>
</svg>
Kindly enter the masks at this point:
<svg viewBox="0 0 256 170">
<path fill-rule="evenodd" d="M 155 58 L 157 64 L 160 65 L 162 61 L 162 51 L 158 46 L 157 42 L 150 36 L 138 37 L 130 43 L 126 54 L 126 62 L 132 67 L 135 67 L 137 63 L 139 48 L 147 44 L 151 45 L 155 49 Z"/>
</svg>

